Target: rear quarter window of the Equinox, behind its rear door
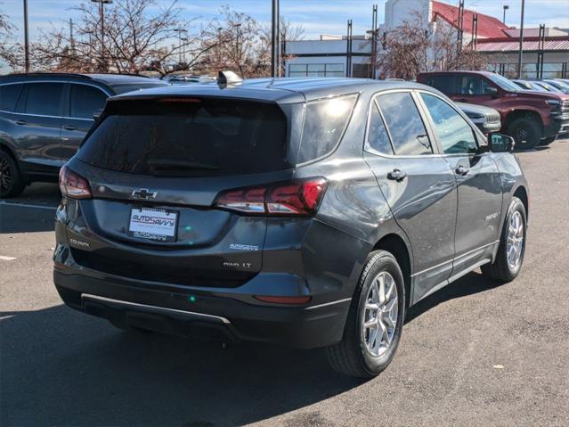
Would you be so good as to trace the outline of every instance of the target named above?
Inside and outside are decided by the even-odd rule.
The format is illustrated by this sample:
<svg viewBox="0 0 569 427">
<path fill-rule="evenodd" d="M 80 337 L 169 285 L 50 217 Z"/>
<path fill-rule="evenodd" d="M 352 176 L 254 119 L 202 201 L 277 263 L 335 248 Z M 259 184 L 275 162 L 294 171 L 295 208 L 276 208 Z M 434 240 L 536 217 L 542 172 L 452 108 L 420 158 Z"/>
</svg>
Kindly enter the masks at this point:
<svg viewBox="0 0 569 427">
<path fill-rule="evenodd" d="M 332 152 L 344 135 L 357 94 L 306 103 L 305 126 L 298 163 L 319 159 Z"/>
</svg>

